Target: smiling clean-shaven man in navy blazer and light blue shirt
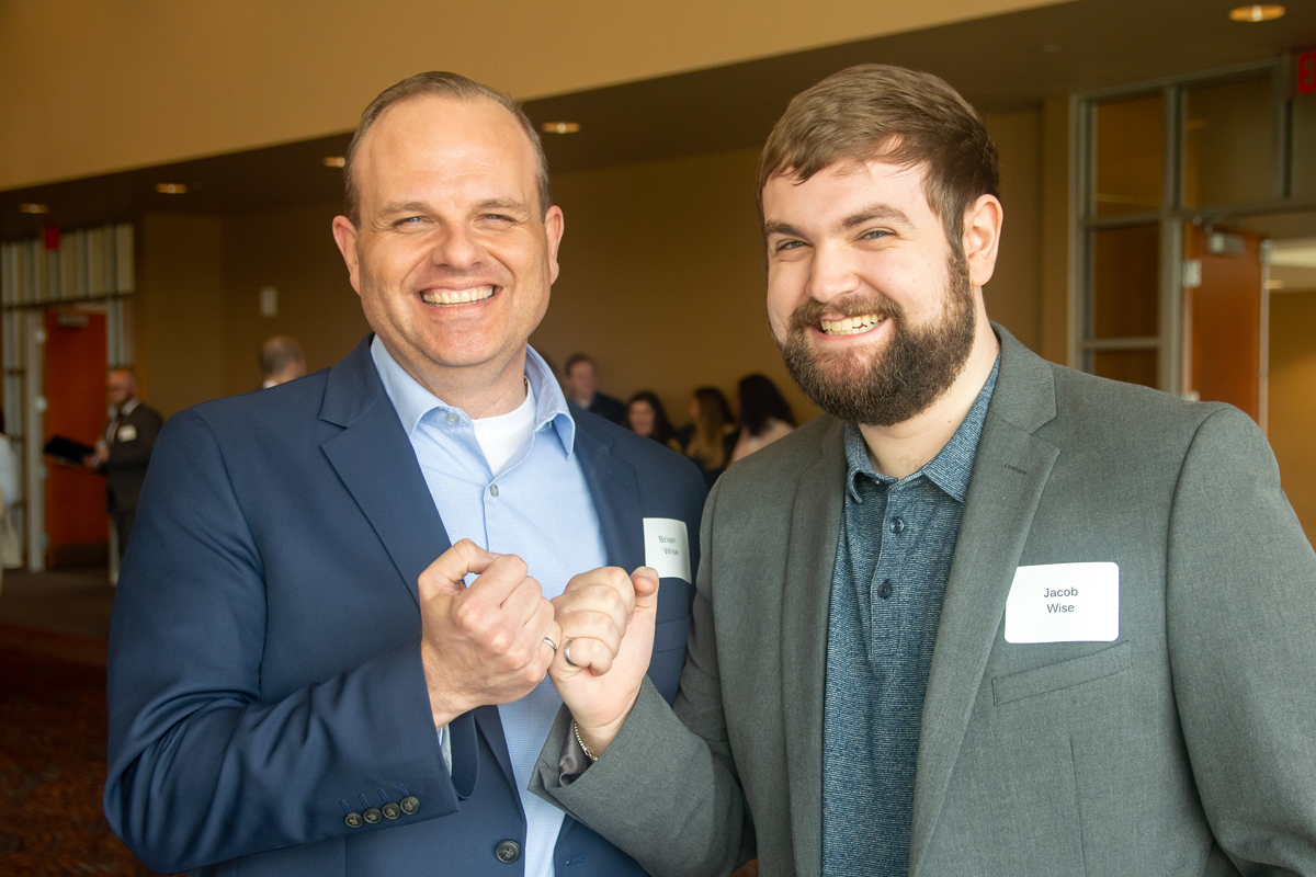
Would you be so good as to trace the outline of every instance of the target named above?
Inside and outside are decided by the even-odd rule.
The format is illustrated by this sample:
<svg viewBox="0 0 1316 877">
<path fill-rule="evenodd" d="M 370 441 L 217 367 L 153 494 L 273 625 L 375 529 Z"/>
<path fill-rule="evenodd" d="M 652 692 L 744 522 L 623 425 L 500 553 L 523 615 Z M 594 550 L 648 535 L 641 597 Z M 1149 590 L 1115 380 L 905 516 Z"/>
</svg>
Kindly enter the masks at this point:
<svg viewBox="0 0 1316 877">
<path fill-rule="evenodd" d="M 563 218 L 513 101 L 454 74 L 384 91 L 345 200 L 375 334 L 161 435 L 111 631 L 109 822 L 162 873 L 638 877 L 522 790 L 546 668 L 604 667 L 628 613 L 675 696 L 701 479 L 569 406 L 526 344 Z M 632 586 L 609 564 L 641 600 L 554 621 L 569 580 Z"/>
</svg>

